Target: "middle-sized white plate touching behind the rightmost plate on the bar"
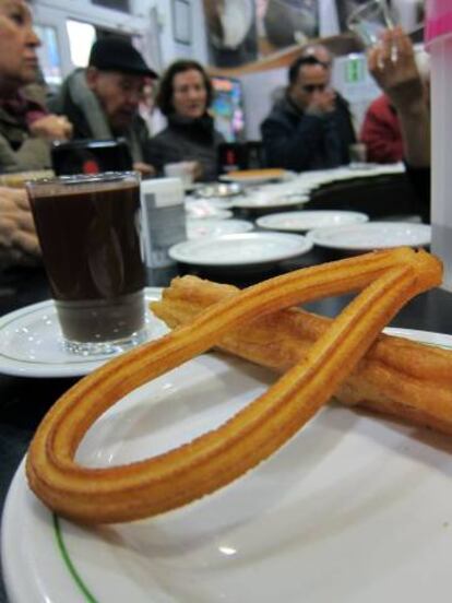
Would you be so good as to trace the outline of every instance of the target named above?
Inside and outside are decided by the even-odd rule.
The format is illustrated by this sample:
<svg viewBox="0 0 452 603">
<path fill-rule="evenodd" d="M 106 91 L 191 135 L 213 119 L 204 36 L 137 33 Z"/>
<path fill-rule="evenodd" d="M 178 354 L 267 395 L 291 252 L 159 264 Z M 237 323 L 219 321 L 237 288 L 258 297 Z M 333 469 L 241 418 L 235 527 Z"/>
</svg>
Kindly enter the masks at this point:
<svg viewBox="0 0 452 603">
<path fill-rule="evenodd" d="M 269 228 L 271 230 L 306 233 L 312 228 L 360 224 L 362 222 L 367 222 L 368 220 L 369 216 L 365 213 L 319 210 L 263 215 L 262 217 L 259 217 L 255 223 L 261 228 Z"/>
</svg>

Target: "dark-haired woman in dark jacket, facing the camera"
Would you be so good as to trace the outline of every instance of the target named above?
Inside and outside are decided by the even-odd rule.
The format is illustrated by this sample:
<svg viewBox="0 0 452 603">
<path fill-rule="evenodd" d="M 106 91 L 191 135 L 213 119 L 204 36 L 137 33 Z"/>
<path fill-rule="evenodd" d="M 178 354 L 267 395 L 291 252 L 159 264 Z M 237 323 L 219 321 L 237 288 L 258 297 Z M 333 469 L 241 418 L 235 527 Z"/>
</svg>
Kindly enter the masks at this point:
<svg viewBox="0 0 452 603">
<path fill-rule="evenodd" d="M 178 60 L 168 67 L 156 96 L 168 125 L 151 139 L 146 155 L 159 172 L 165 164 L 195 162 L 195 180 L 216 179 L 217 146 L 224 138 L 209 114 L 212 98 L 211 80 L 200 63 Z"/>
</svg>

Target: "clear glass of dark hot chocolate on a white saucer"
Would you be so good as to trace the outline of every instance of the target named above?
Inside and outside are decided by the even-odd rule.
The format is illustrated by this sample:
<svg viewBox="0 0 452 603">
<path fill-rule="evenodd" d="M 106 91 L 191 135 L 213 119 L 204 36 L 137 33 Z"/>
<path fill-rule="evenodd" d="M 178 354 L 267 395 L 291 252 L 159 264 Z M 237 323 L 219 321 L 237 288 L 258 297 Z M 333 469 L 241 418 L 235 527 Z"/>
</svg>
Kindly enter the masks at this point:
<svg viewBox="0 0 452 603">
<path fill-rule="evenodd" d="M 115 354 L 145 339 L 140 176 L 26 185 L 64 347 Z"/>
</svg>

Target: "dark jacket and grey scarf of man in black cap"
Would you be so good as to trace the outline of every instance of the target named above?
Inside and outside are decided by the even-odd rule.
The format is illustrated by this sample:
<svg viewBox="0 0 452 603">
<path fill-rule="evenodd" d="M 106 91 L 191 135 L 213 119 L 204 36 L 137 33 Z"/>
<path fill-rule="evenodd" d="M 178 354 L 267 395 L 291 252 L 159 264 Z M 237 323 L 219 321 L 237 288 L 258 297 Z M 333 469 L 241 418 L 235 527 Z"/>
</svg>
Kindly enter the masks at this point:
<svg viewBox="0 0 452 603">
<path fill-rule="evenodd" d="M 85 70 L 76 69 L 64 80 L 60 92 L 48 103 L 49 109 L 57 115 L 66 115 L 73 126 L 74 139 L 114 139 L 104 109 L 96 95 L 86 84 Z M 143 150 L 150 139 L 146 123 L 135 115 L 126 132 L 133 162 L 143 162 Z"/>
</svg>

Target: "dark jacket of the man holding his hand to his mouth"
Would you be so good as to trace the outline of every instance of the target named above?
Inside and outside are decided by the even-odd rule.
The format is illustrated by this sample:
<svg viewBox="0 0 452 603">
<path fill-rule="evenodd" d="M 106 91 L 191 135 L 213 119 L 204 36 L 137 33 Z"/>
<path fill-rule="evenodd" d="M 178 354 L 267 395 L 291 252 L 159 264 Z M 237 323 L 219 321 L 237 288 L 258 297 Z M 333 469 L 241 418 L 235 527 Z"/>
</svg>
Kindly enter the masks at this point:
<svg viewBox="0 0 452 603">
<path fill-rule="evenodd" d="M 348 103 L 340 94 L 335 110 L 322 116 L 301 111 L 286 96 L 276 102 L 261 132 L 269 166 L 294 172 L 348 164 L 348 145 L 356 141 Z"/>
</svg>

